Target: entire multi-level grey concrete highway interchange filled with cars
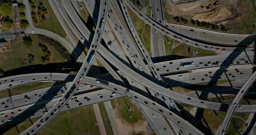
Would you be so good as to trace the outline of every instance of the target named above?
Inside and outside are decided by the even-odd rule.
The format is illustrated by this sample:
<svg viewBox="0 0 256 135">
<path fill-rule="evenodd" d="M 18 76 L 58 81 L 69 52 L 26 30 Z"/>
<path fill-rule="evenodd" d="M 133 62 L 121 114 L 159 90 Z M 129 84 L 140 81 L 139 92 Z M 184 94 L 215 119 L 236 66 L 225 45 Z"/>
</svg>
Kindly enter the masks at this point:
<svg viewBox="0 0 256 135">
<path fill-rule="evenodd" d="M 214 111 L 227 111 L 219 135 L 226 134 L 233 113 L 256 112 L 255 105 L 239 105 L 256 79 L 256 73 L 253 73 L 255 54 L 252 46 L 255 35 L 212 32 L 168 24 L 163 19 L 161 0 L 159 2 L 149 0 L 152 5 L 151 17 L 138 10 L 129 0 L 100 0 L 100 3 L 95 0 L 83 0 L 96 25 L 95 32 L 91 32 L 77 14 L 79 9 L 76 0 L 48 1 L 70 41 L 67 42 L 53 32 L 32 26 L 25 32 L 52 37 L 59 41 L 77 62 L 83 64 L 80 65 L 80 71 L 76 75 L 34 73 L 1 78 L 0 91 L 34 82 L 65 83 L 0 99 L 2 104 L 0 127 L 21 123 L 31 115 L 32 117 L 43 115 L 31 127 L 20 133 L 20 135 L 32 135 L 60 111 L 123 96 L 128 96 L 136 103 L 157 135 L 207 135 L 180 115 L 177 102 Z M 116 4 L 119 6 L 113 6 Z M 153 49 L 156 51 L 152 52 L 153 57 L 165 56 L 163 36 L 193 47 L 216 51 L 218 55 L 153 63 L 136 32 L 128 7 L 152 27 L 151 47 L 156 48 Z M 190 29 L 194 29 L 195 32 L 192 33 Z M 207 33 L 207 36 L 202 33 Z M 101 40 L 104 40 L 106 45 L 103 45 Z M 83 47 L 77 47 L 78 41 L 89 49 L 87 55 L 79 50 Z M 219 43 L 233 46 L 223 46 Z M 95 59 L 99 60 L 109 73 L 86 77 Z M 181 67 L 181 62 L 192 62 L 193 66 Z M 122 78 L 126 78 L 127 81 Z M 232 79 L 236 81 L 229 82 L 231 87 L 238 86 L 238 89 L 236 88 L 237 91 L 233 89 L 235 92 L 231 95 L 236 93 L 236 98 L 230 105 L 199 99 L 192 96 L 193 93 L 190 95 L 172 91 L 172 87 Z M 220 90 L 225 87 L 221 87 Z M 205 91 L 213 90 L 214 88 L 209 87 Z M 157 113 L 155 117 L 158 120 L 152 117 L 153 112 Z M 164 130 L 157 130 L 161 126 Z"/>
</svg>

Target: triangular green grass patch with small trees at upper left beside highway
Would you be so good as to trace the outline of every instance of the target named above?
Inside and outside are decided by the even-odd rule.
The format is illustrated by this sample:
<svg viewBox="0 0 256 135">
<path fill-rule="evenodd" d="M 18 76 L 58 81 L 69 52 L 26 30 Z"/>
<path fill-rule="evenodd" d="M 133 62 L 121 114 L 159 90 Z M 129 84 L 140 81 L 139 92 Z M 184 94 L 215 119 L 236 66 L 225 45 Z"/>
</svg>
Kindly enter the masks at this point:
<svg viewBox="0 0 256 135">
<path fill-rule="evenodd" d="M 66 36 L 64 29 L 61 27 L 58 19 L 56 18 L 48 0 L 33 0 L 35 6 L 37 7 L 40 2 L 44 4 L 44 7 L 47 9 L 48 14 L 46 15 L 46 21 L 41 20 L 41 17 L 37 15 L 38 24 L 34 24 L 36 28 L 46 29 L 48 31 L 54 32 L 62 37 Z"/>
</svg>

